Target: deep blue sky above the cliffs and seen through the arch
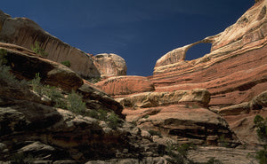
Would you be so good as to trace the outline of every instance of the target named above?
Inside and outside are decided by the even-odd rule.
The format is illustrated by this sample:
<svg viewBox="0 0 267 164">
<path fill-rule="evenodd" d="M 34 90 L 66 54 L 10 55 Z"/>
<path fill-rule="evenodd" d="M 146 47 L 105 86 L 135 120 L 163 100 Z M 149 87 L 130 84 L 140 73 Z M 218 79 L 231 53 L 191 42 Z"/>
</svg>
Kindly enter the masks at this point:
<svg viewBox="0 0 267 164">
<path fill-rule="evenodd" d="M 156 61 L 175 48 L 216 35 L 254 0 L 8 0 L 0 10 L 27 17 L 63 42 L 92 53 L 116 53 L 129 75 L 152 75 Z M 208 44 L 187 59 L 204 56 Z"/>
</svg>

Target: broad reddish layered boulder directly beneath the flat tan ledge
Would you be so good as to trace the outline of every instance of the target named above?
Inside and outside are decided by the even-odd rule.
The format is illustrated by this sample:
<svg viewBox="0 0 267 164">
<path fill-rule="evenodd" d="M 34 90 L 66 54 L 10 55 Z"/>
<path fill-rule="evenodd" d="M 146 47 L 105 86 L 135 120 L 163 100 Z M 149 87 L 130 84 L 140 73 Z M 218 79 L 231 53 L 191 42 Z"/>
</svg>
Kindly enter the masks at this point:
<svg viewBox="0 0 267 164">
<path fill-rule="evenodd" d="M 150 131 L 151 135 L 176 138 L 180 144 L 239 144 L 239 139 L 231 132 L 223 117 L 201 106 L 125 108 L 123 113 L 126 121 L 135 121 L 139 128 Z"/>
</svg>

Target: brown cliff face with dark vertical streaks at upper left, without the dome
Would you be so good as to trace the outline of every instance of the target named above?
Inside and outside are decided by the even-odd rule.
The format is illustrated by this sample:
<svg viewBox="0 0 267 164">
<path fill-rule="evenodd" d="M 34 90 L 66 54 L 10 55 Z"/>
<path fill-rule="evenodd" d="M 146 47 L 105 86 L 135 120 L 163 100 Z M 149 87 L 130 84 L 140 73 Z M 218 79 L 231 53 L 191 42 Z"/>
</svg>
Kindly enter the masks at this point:
<svg viewBox="0 0 267 164">
<path fill-rule="evenodd" d="M 36 42 L 48 52 L 48 59 L 61 63 L 69 60 L 71 69 L 84 77 L 99 77 L 101 74 L 93 65 L 93 59 L 84 51 L 63 43 L 45 32 L 36 22 L 27 18 L 11 18 L 0 12 L 0 41 L 30 49 Z"/>
</svg>

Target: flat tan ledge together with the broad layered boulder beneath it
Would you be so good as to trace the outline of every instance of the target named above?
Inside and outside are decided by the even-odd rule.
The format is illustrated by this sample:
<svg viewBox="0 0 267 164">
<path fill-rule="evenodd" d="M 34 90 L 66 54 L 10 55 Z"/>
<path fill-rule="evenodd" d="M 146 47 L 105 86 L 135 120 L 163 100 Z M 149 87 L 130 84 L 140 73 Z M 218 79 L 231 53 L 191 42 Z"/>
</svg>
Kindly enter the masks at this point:
<svg viewBox="0 0 267 164">
<path fill-rule="evenodd" d="M 158 131 L 181 143 L 221 144 L 221 137 L 230 146 L 239 144 L 226 121 L 206 106 L 210 100 L 207 90 L 174 92 L 145 92 L 117 98 L 125 106 L 126 121 L 136 122 L 139 128 Z"/>
</svg>

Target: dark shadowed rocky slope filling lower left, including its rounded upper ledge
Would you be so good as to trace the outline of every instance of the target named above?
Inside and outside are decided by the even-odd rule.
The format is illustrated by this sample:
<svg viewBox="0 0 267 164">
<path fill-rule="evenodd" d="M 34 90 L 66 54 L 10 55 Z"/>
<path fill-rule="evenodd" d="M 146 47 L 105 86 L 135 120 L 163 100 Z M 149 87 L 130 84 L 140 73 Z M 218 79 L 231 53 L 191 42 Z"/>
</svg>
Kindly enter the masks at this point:
<svg viewBox="0 0 267 164">
<path fill-rule="evenodd" d="M 0 49 L 1 163 L 167 162 L 168 157 L 162 156 L 164 145 L 142 137 L 141 129 L 122 119 L 122 106 L 117 101 L 67 66 L 17 45 L 1 43 Z M 34 90 L 36 84 L 31 81 L 29 85 L 16 80 L 32 79 L 36 73 L 43 84 L 58 87 L 58 93 L 51 93 L 53 97 L 69 98 L 69 90 L 77 90 L 85 103 L 84 113 L 75 112 L 77 99 L 73 101 L 75 109 L 67 110 L 54 105 L 47 93 Z"/>
</svg>

